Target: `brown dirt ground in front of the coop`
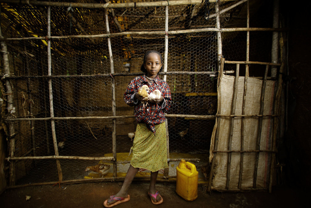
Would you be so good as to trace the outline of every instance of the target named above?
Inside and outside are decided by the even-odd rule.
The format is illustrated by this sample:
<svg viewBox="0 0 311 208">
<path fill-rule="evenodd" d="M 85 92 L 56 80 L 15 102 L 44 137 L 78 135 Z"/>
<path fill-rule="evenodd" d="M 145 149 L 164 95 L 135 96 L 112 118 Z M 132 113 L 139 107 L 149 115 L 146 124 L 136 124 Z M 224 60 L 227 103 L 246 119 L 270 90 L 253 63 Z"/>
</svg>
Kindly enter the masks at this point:
<svg viewBox="0 0 311 208">
<path fill-rule="evenodd" d="M 116 193 L 122 182 L 90 182 L 59 186 L 31 186 L 7 189 L 0 195 L 3 207 L 104 207 L 103 201 Z M 147 195 L 149 184 L 133 182 L 128 193 L 131 200 L 116 207 L 156 207 Z M 175 183 L 158 183 L 157 189 L 164 202 L 157 207 L 304 207 L 309 193 L 293 188 L 274 187 L 268 192 L 217 192 L 206 193 L 203 186 L 198 186 L 198 197 L 188 202 L 175 192 Z M 26 196 L 30 196 L 26 200 Z"/>
</svg>

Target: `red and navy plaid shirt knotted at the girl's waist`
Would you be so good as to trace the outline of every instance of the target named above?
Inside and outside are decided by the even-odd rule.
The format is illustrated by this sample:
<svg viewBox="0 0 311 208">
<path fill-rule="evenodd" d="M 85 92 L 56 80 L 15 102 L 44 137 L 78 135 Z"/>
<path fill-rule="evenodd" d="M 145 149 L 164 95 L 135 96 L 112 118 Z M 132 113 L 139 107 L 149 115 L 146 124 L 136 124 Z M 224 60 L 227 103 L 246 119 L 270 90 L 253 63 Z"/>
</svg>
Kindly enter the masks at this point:
<svg viewBox="0 0 311 208">
<path fill-rule="evenodd" d="M 158 89 L 162 93 L 163 103 L 151 103 L 148 102 L 146 108 L 143 107 L 143 103 L 135 98 L 135 94 L 142 85 L 148 85 L 150 92 Z M 164 81 L 160 80 L 157 75 L 152 81 L 148 82 L 146 76 L 137 76 L 129 84 L 124 93 L 124 101 L 126 104 L 134 107 L 134 115 L 137 123 L 146 123 L 147 127 L 156 133 L 155 125 L 163 123 L 165 121 L 165 113 L 169 112 L 171 106 L 171 91 L 169 85 Z"/>
</svg>

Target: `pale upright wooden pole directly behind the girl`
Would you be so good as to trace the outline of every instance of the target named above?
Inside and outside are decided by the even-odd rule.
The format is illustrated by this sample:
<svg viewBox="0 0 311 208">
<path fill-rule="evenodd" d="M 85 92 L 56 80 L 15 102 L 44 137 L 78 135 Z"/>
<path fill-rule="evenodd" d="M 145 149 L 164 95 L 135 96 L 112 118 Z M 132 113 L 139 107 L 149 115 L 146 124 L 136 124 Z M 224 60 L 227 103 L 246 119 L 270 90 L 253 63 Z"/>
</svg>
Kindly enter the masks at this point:
<svg viewBox="0 0 311 208">
<path fill-rule="evenodd" d="M 165 6 L 165 31 L 169 30 L 169 6 Z M 168 45 L 169 45 L 169 36 L 165 35 L 165 51 L 164 51 L 164 68 L 163 71 L 167 72 L 167 56 L 168 56 Z M 166 75 L 163 75 L 163 80 L 166 82 Z M 165 119 L 165 128 L 166 128 L 166 152 L 167 158 L 169 158 L 169 129 L 167 119 Z M 167 162 L 169 165 L 169 162 Z M 164 169 L 164 177 L 169 176 L 169 168 Z"/>
</svg>

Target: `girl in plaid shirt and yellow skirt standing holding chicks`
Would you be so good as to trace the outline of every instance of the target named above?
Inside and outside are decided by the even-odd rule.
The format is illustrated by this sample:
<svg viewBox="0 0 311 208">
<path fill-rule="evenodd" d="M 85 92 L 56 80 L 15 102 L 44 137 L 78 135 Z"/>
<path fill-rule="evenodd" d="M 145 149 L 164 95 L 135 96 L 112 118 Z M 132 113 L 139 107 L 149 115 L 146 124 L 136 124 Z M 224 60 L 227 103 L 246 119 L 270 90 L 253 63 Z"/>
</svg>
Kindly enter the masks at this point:
<svg viewBox="0 0 311 208">
<path fill-rule="evenodd" d="M 160 80 L 158 73 L 162 71 L 162 56 L 158 51 L 147 51 L 141 70 L 145 75 L 134 78 L 124 93 L 124 101 L 134 106 L 137 128 L 132 147 L 132 160 L 120 191 L 104 201 L 105 207 L 112 207 L 130 200 L 128 188 L 140 168 L 150 170 L 150 186 L 148 194 L 153 204 L 163 202 L 156 191 L 156 178 L 161 169 L 168 168 L 166 152 L 165 113 L 169 111 L 171 93 L 169 85 Z M 137 92 L 142 85 L 147 85 L 150 92 L 160 90 L 161 96 L 145 103 L 144 97 Z"/>
</svg>

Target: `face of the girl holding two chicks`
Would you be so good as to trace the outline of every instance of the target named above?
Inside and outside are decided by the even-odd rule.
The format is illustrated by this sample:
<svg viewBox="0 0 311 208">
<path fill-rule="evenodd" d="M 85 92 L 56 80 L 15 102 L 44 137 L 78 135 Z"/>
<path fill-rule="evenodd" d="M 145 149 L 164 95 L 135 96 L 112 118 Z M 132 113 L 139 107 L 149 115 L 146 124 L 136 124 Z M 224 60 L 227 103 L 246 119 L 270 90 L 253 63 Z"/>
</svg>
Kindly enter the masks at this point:
<svg viewBox="0 0 311 208">
<path fill-rule="evenodd" d="M 162 67 L 159 54 L 151 53 L 146 57 L 144 67 L 147 70 L 147 77 L 153 79 L 156 77 Z"/>
</svg>

